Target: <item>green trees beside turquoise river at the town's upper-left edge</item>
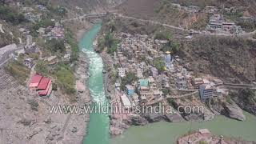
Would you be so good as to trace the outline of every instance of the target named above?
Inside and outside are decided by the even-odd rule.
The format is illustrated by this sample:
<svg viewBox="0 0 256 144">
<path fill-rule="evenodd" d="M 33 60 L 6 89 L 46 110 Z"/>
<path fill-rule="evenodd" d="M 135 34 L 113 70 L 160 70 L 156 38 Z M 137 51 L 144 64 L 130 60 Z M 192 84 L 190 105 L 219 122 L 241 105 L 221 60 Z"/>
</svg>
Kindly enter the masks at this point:
<svg viewBox="0 0 256 144">
<path fill-rule="evenodd" d="M 114 38 L 114 34 L 108 32 L 104 38 L 99 39 L 98 46 L 100 47 L 101 51 L 106 47 L 108 54 L 114 54 L 114 52 L 118 49 L 118 43 L 119 40 Z"/>
</svg>

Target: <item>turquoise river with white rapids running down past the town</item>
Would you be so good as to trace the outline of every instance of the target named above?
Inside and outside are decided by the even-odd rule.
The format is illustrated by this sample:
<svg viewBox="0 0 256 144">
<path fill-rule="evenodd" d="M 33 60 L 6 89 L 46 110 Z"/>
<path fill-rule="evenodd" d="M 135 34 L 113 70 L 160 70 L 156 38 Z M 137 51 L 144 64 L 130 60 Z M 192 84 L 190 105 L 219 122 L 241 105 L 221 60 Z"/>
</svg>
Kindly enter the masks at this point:
<svg viewBox="0 0 256 144">
<path fill-rule="evenodd" d="M 103 85 L 103 62 L 102 58 L 94 51 L 93 42 L 94 38 L 101 29 L 102 24 L 95 24 L 94 27 L 87 31 L 82 40 L 79 43 L 79 47 L 90 59 L 90 78 L 87 82 L 87 86 L 90 89 L 90 96 L 96 106 L 99 103 L 106 104 L 107 98 L 105 95 Z M 109 143 L 109 117 L 108 114 L 90 114 L 90 122 L 88 125 L 88 134 L 84 139 L 85 144 L 108 144 Z"/>
</svg>

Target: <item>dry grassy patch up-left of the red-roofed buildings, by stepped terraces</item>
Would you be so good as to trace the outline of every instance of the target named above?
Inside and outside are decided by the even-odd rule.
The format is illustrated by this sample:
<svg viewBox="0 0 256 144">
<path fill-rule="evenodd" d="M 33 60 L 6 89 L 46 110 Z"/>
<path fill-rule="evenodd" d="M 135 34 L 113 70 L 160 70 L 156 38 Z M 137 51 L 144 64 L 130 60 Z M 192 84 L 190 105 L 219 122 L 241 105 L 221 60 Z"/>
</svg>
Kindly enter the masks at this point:
<svg viewBox="0 0 256 144">
<path fill-rule="evenodd" d="M 26 82 L 26 78 L 28 78 L 30 74 L 30 70 L 28 70 L 26 66 L 18 61 L 8 63 L 5 68 L 10 73 L 10 75 L 18 79 L 18 81 L 22 84 Z"/>
</svg>

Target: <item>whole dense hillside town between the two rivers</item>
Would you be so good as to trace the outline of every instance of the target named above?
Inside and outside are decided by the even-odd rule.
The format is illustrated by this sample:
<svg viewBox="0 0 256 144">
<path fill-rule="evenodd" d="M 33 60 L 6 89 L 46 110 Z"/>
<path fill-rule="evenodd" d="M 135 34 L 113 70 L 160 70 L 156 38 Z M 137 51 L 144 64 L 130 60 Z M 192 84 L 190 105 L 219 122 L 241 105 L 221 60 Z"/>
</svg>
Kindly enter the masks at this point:
<svg viewBox="0 0 256 144">
<path fill-rule="evenodd" d="M 193 72 L 179 65 L 182 60 L 178 56 L 170 51 L 164 53 L 159 50 L 166 41 L 155 40 L 147 35 L 124 33 L 118 38 L 122 42 L 111 63 L 117 67 L 115 89 L 122 93 L 119 96 L 124 106 L 162 102 L 167 95 L 164 93 L 166 90 L 171 90 L 171 93 L 174 90 L 199 90 L 202 101 L 218 95 L 217 86 L 223 82 L 217 78 L 210 78 L 210 81 L 209 78 L 195 78 Z M 153 66 L 154 58 L 162 58 L 166 63 L 164 71 Z M 135 74 L 138 81 L 127 84 L 125 90 L 121 90 L 122 79 L 127 73 Z"/>
</svg>

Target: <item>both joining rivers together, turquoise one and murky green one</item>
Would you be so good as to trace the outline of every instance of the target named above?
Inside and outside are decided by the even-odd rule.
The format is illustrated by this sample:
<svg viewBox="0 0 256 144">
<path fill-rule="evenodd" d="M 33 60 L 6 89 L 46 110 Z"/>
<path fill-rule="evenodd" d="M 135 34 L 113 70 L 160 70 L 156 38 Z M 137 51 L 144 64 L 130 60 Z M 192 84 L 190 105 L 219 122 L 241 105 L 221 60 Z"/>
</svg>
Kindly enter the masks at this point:
<svg viewBox="0 0 256 144">
<path fill-rule="evenodd" d="M 103 85 L 102 58 L 94 52 L 94 38 L 101 29 L 101 24 L 96 24 L 82 38 L 79 46 L 90 59 L 90 78 L 87 86 L 90 88 L 91 98 L 98 105 L 106 103 L 107 98 Z M 256 141 L 256 117 L 246 113 L 246 122 L 239 122 L 224 116 L 217 116 L 210 122 L 155 122 L 146 126 L 131 126 L 124 134 L 116 138 L 109 135 L 108 114 L 90 114 L 88 134 L 84 144 L 170 144 L 190 130 L 202 128 L 209 129 L 214 134 L 229 137 L 243 138 Z"/>
</svg>

